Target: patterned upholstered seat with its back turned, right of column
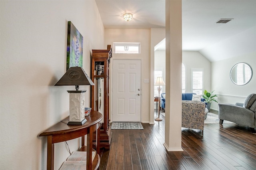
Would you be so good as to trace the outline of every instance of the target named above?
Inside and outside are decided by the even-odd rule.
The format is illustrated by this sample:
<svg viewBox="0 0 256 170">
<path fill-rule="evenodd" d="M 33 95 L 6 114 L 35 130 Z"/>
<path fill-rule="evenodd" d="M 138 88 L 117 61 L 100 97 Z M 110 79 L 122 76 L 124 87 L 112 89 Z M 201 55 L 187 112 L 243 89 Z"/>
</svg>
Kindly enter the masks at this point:
<svg viewBox="0 0 256 170">
<path fill-rule="evenodd" d="M 204 132 L 205 103 L 200 101 L 182 101 L 182 127 L 194 128 Z"/>
</svg>

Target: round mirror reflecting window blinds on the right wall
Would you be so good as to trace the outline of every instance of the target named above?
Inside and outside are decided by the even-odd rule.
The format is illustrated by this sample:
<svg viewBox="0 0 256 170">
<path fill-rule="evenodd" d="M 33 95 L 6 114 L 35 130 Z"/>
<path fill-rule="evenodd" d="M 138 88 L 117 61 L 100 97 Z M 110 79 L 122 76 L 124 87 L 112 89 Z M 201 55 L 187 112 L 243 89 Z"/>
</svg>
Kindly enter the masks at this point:
<svg viewBox="0 0 256 170">
<path fill-rule="evenodd" d="M 230 71 L 230 79 L 236 85 L 245 85 L 252 78 L 252 68 L 246 63 L 237 63 Z"/>
</svg>

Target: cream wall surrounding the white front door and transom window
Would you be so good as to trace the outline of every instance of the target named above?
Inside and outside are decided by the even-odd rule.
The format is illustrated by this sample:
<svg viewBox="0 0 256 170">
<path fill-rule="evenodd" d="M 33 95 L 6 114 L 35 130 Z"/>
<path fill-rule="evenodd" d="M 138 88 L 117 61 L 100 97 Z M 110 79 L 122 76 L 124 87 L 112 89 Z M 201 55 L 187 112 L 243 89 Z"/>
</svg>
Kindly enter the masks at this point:
<svg viewBox="0 0 256 170">
<path fill-rule="evenodd" d="M 112 59 L 142 59 L 142 76 L 141 76 L 142 120 L 141 121 L 149 122 L 148 115 L 150 113 L 150 108 L 148 106 L 150 105 L 150 83 L 144 83 L 143 80 L 150 79 L 150 30 L 106 29 L 105 44 L 113 45 L 114 42 L 141 43 L 140 54 L 113 53 Z M 110 110 L 112 109 L 110 108 Z M 111 115 L 110 115 L 110 119 L 111 119 Z"/>
</svg>

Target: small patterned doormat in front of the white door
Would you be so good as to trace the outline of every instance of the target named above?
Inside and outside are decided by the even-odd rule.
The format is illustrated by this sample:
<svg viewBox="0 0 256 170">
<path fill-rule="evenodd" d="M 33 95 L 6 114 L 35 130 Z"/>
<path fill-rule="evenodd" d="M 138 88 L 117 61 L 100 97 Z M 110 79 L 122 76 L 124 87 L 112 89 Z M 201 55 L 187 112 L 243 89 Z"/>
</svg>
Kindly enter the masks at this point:
<svg viewBox="0 0 256 170">
<path fill-rule="evenodd" d="M 140 122 L 112 122 L 111 129 L 144 129 Z"/>
</svg>

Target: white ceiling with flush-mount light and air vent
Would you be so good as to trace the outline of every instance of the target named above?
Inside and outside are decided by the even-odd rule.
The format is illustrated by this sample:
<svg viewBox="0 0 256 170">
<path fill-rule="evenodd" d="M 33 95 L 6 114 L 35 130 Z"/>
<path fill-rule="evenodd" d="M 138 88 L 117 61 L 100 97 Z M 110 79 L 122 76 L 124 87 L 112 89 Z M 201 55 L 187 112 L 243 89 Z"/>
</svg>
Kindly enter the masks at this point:
<svg viewBox="0 0 256 170">
<path fill-rule="evenodd" d="M 165 28 L 165 0 L 96 0 L 105 29 Z M 130 12 L 126 22 L 122 14 Z M 216 24 L 221 18 L 233 19 Z M 164 50 L 164 47 L 160 47 Z M 256 50 L 256 0 L 182 0 L 182 50 L 209 61 Z"/>
</svg>

